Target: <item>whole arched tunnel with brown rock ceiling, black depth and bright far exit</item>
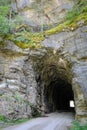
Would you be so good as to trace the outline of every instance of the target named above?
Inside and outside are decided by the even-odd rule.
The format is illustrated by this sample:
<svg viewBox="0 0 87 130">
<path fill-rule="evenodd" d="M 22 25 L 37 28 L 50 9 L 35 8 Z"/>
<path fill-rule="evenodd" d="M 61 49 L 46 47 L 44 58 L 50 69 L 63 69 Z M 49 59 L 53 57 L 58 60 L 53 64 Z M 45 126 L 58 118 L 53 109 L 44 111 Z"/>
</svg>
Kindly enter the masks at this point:
<svg viewBox="0 0 87 130">
<path fill-rule="evenodd" d="M 72 74 L 68 63 L 62 58 L 50 56 L 44 62 L 41 77 L 44 82 L 45 111 L 75 111 Z"/>
</svg>

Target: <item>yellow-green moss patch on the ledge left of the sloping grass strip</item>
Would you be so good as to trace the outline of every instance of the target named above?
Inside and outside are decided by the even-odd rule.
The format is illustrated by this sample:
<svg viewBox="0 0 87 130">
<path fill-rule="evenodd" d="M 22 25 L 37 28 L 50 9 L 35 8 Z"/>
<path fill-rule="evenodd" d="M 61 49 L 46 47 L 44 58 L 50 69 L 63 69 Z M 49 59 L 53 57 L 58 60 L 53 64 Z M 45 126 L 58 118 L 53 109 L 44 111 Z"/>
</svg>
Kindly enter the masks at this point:
<svg viewBox="0 0 87 130">
<path fill-rule="evenodd" d="M 44 40 L 44 35 L 41 33 L 30 33 L 24 31 L 22 33 L 15 33 L 8 37 L 9 40 L 13 41 L 20 48 L 38 48 L 40 42 Z"/>
</svg>

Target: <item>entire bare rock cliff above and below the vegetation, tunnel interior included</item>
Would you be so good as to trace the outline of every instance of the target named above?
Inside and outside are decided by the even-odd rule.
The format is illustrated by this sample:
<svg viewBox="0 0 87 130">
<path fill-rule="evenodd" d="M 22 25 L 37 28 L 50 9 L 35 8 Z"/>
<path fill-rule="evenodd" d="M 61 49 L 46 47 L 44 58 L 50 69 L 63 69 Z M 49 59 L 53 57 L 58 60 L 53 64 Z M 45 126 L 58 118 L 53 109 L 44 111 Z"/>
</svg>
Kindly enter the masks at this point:
<svg viewBox="0 0 87 130">
<path fill-rule="evenodd" d="M 16 0 L 13 10 L 36 26 L 60 22 L 72 6 L 70 0 Z M 71 111 L 73 100 L 76 119 L 87 122 L 86 42 L 87 26 L 46 36 L 42 49 L 21 49 L 0 38 L 0 115 L 19 119 Z"/>
</svg>

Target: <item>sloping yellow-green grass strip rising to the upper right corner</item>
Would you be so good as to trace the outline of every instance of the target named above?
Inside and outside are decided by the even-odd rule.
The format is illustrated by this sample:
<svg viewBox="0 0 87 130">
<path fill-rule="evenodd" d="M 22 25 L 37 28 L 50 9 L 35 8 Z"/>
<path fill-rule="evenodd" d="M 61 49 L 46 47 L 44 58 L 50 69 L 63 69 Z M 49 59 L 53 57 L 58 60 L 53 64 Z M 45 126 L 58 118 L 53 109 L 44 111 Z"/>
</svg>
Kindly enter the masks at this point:
<svg viewBox="0 0 87 130">
<path fill-rule="evenodd" d="M 83 24 L 87 25 L 87 0 L 80 0 L 71 11 L 68 11 L 62 24 L 45 31 L 45 34 L 52 35 L 66 29 L 68 31 L 72 29 L 75 30 L 80 26 L 78 22 L 81 20 L 84 20 Z"/>
</svg>

